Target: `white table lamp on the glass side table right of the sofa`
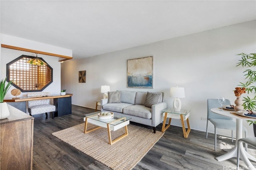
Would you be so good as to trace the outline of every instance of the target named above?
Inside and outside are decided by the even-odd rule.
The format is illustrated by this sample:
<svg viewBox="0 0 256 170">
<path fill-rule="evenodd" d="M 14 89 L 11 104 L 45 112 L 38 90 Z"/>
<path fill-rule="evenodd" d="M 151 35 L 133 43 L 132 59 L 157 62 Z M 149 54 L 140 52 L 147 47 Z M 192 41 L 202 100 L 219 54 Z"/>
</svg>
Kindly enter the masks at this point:
<svg viewBox="0 0 256 170">
<path fill-rule="evenodd" d="M 179 98 L 185 98 L 184 87 L 171 87 L 170 89 L 170 97 L 175 98 L 173 101 L 173 109 L 174 111 L 180 111 L 181 109 L 181 101 Z M 178 102 L 178 106 L 176 105 Z"/>
</svg>

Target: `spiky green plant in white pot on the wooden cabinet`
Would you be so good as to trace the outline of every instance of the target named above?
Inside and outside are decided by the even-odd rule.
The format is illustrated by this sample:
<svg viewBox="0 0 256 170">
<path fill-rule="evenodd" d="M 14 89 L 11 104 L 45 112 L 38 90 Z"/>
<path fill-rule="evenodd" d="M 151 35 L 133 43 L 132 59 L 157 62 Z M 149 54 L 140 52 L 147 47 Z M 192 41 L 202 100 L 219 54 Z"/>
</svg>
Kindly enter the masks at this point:
<svg viewBox="0 0 256 170">
<path fill-rule="evenodd" d="M 0 119 L 5 119 L 10 115 L 7 103 L 4 102 L 4 97 L 12 85 L 12 81 L 8 82 L 5 86 L 6 79 L 2 79 L 0 82 Z"/>
</svg>

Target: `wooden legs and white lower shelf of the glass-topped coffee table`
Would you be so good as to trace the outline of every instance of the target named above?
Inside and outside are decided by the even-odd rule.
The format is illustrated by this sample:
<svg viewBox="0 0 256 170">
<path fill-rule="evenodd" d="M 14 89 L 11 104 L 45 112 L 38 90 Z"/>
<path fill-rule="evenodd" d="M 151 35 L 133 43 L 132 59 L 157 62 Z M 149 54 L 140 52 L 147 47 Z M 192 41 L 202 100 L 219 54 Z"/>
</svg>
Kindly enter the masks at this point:
<svg viewBox="0 0 256 170">
<path fill-rule="evenodd" d="M 96 115 L 91 115 L 91 116 L 85 117 L 84 133 L 89 133 L 91 131 L 95 131 L 97 129 L 100 129 L 101 127 L 107 128 L 108 129 L 108 143 L 109 143 L 109 145 L 112 145 L 113 143 L 116 143 L 117 141 L 123 139 L 124 137 L 126 137 L 128 135 L 127 125 L 130 124 L 130 121 L 129 120 L 126 121 L 126 117 L 122 117 L 120 119 L 113 120 L 110 123 L 114 123 L 116 121 L 121 121 L 121 120 L 124 120 L 124 122 L 119 123 L 117 125 L 111 125 L 110 123 L 105 123 L 105 122 L 102 122 L 102 121 L 90 119 L 90 117 L 93 117 L 93 116 L 96 116 Z M 92 123 L 94 125 L 97 125 L 98 127 L 94 128 L 94 129 L 87 130 L 87 123 Z M 116 138 L 112 141 L 110 131 L 111 130 L 116 131 L 116 130 L 122 128 L 122 127 L 124 127 L 124 129 L 125 129 L 124 135 L 121 135 L 120 137 L 118 137 L 118 138 Z"/>
</svg>

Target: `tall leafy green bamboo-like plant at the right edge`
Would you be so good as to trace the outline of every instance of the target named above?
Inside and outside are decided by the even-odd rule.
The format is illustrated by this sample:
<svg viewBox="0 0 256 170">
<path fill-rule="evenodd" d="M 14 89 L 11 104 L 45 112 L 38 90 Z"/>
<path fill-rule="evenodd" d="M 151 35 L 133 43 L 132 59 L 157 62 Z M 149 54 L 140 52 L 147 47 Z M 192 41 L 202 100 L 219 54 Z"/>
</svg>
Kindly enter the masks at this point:
<svg viewBox="0 0 256 170">
<path fill-rule="evenodd" d="M 242 66 L 246 68 L 254 68 L 256 66 L 256 53 L 246 54 L 241 53 L 238 54 L 242 57 L 241 60 L 239 60 L 239 63 L 236 63 L 236 66 Z M 256 71 L 252 69 L 246 69 L 243 73 L 245 77 L 246 82 L 240 84 L 238 86 L 242 86 L 242 88 L 246 88 L 246 91 L 248 94 L 253 93 L 256 94 Z M 250 109 L 255 110 L 256 109 L 256 95 L 254 95 L 253 98 L 250 98 L 249 96 L 244 97 L 244 109 Z M 256 123 L 255 123 L 256 124 Z"/>
</svg>

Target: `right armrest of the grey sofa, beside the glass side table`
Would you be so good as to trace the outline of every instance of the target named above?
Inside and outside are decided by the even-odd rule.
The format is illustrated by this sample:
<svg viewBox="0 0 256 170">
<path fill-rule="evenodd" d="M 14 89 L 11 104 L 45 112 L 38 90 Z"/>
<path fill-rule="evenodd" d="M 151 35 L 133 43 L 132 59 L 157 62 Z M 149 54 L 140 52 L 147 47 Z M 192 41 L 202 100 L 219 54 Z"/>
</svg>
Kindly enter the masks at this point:
<svg viewBox="0 0 256 170">
<path fill-rule="evenodd" d="M 162 110 L 167 108 L 167 103 L 162 102 L 158 104 L 154 104 L 151 107 L 151 113 L 152 113 L 152 127 L 156 127 L 160 123 L 162 123 L 163 116 L 162 116 Z"/>
</svg>

